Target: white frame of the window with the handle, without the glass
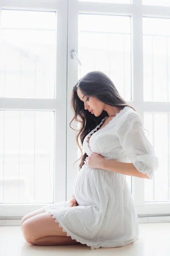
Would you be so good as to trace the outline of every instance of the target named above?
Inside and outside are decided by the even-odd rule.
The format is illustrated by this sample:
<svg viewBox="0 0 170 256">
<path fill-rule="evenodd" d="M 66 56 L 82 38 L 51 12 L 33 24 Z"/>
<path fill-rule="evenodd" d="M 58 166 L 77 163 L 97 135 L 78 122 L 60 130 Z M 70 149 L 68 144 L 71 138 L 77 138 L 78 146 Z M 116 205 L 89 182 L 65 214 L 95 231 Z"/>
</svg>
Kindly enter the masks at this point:
<svg viewBox="0 0 170 256">
<path fill-rule="evenodd" d="M 103 1 L 104 2 L 104 1 Z M 68 96 L 78 79 L 77 59 L 71 59 L 71 50 L 78 55 L 78 15 L 105 14 L 131 16 L 131 74 L 132 74 L 132 101 L 136 111 L 144 120 L 144 113 L 169 113 L 170 102 L 144 102 L 143 101 L 143 17 L 170 18 L 170 7 L 144 6 L 142 0 L 133 0 L 132 4 L 93 3 L 68 1 Z M 81 61 L 81 60 L 80 60 Z M 74 178 L 78 172 L 77 145 L 74 132 L 69 128 L 72 119 L 70 102 L 68 102 L 67 114 L 67 199 L 73 193 Z M 76 125 L 74 126 L 76 127 Z M 159 157 L 159 156 L 158 156 Z M 161 215 L 170 213 L 170 202 L 144 203 L 144 179 L 132 177 L 132 195 L 138 215 Z"/>
</svg>

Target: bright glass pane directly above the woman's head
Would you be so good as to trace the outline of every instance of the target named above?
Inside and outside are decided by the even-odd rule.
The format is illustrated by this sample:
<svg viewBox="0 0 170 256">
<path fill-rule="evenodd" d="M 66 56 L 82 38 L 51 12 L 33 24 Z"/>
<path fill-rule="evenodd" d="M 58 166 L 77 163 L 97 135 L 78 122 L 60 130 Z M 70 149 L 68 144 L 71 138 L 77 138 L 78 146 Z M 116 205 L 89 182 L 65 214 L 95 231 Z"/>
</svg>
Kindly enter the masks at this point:
<svg viewBox="0 0 170 256">
<path fill-rule="evenodd" d="M 79 78 L 99 70 L 131 100 L 130 17 L 79 14 Z"/>
</svg>

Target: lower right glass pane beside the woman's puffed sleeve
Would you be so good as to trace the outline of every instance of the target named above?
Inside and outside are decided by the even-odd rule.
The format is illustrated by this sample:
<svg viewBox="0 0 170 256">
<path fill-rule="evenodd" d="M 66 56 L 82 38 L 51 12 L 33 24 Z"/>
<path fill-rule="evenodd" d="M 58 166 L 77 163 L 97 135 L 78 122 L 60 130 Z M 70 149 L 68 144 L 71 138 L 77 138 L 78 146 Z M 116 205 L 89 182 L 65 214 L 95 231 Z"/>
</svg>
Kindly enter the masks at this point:
<svg viewBox="0 0 170 256">
<path fill-rule="evenodd" d="M 149 131 L 149 136 L 146 131 L 147 138 L 159 157 L 159 168 L 153 180 L 144 179 L 144 201 L 170 201 L 170 114 L 144 113 L 144 128 Z"/>
</svg>

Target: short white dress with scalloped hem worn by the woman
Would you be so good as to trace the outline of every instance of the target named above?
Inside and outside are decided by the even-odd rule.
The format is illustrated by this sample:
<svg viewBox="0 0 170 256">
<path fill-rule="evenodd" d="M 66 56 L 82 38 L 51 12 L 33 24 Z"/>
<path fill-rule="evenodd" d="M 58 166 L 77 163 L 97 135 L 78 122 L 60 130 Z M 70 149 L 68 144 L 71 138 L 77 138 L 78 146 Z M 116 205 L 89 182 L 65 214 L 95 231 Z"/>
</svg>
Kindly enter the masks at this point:
<svg viewBox="0 0 170 256">
<path fill-rule="evenodd" d="M 133 163 L 152 180 L 159 161 L 139 114 L 125 107 L 97 131 L 104 121 L 85 137 L 86 154 L 96 152 L 106 159 Z M 67 236 L 91 249 L 125 246 L 139 238 L 138 216 L 126 175 L 84 164 L 74 181 L 74 196 L 76 207 L 70 207 L 69 201 L 44 207 Z"/>
</svg>

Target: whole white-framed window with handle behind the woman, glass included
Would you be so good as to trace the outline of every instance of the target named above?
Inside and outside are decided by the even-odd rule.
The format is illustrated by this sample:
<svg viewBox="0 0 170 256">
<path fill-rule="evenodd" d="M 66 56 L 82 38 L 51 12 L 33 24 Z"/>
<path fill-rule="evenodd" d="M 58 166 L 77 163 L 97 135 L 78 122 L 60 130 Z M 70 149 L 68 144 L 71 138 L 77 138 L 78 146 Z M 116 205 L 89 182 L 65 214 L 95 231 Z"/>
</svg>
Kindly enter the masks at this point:
<svg viewBox="0 0 170 256">
<path fill-rule="evenodd" d="M 79 59 L 68 61 L 71 70 L 68 87 L 70 79 L 74 85 L 89 71 L 100 70 L 133 105 L 159 157 L 159 169 L 154 172 L 153 180 L 130 176 L 126 180 L 139 215 L 167 213 L 170 211 L 170 204 L 165 203 L 170 198 L 169 7 L 154 8 L 144 5 L 142 0 L 130 4 L 102 3 L 74 1 L 75 12 L 74 8 L 68 9 L 71 31 L 68 48 L 74 49 Z M 68 147 L 72 141 L 68 139 Z M 77 151 L 75 155 L 77 159 Z M 68 170 L 71 172 L 73 169 Z M 71 192 L 72 187 L 68 185 L 68 189 Z"/>
</svg>

